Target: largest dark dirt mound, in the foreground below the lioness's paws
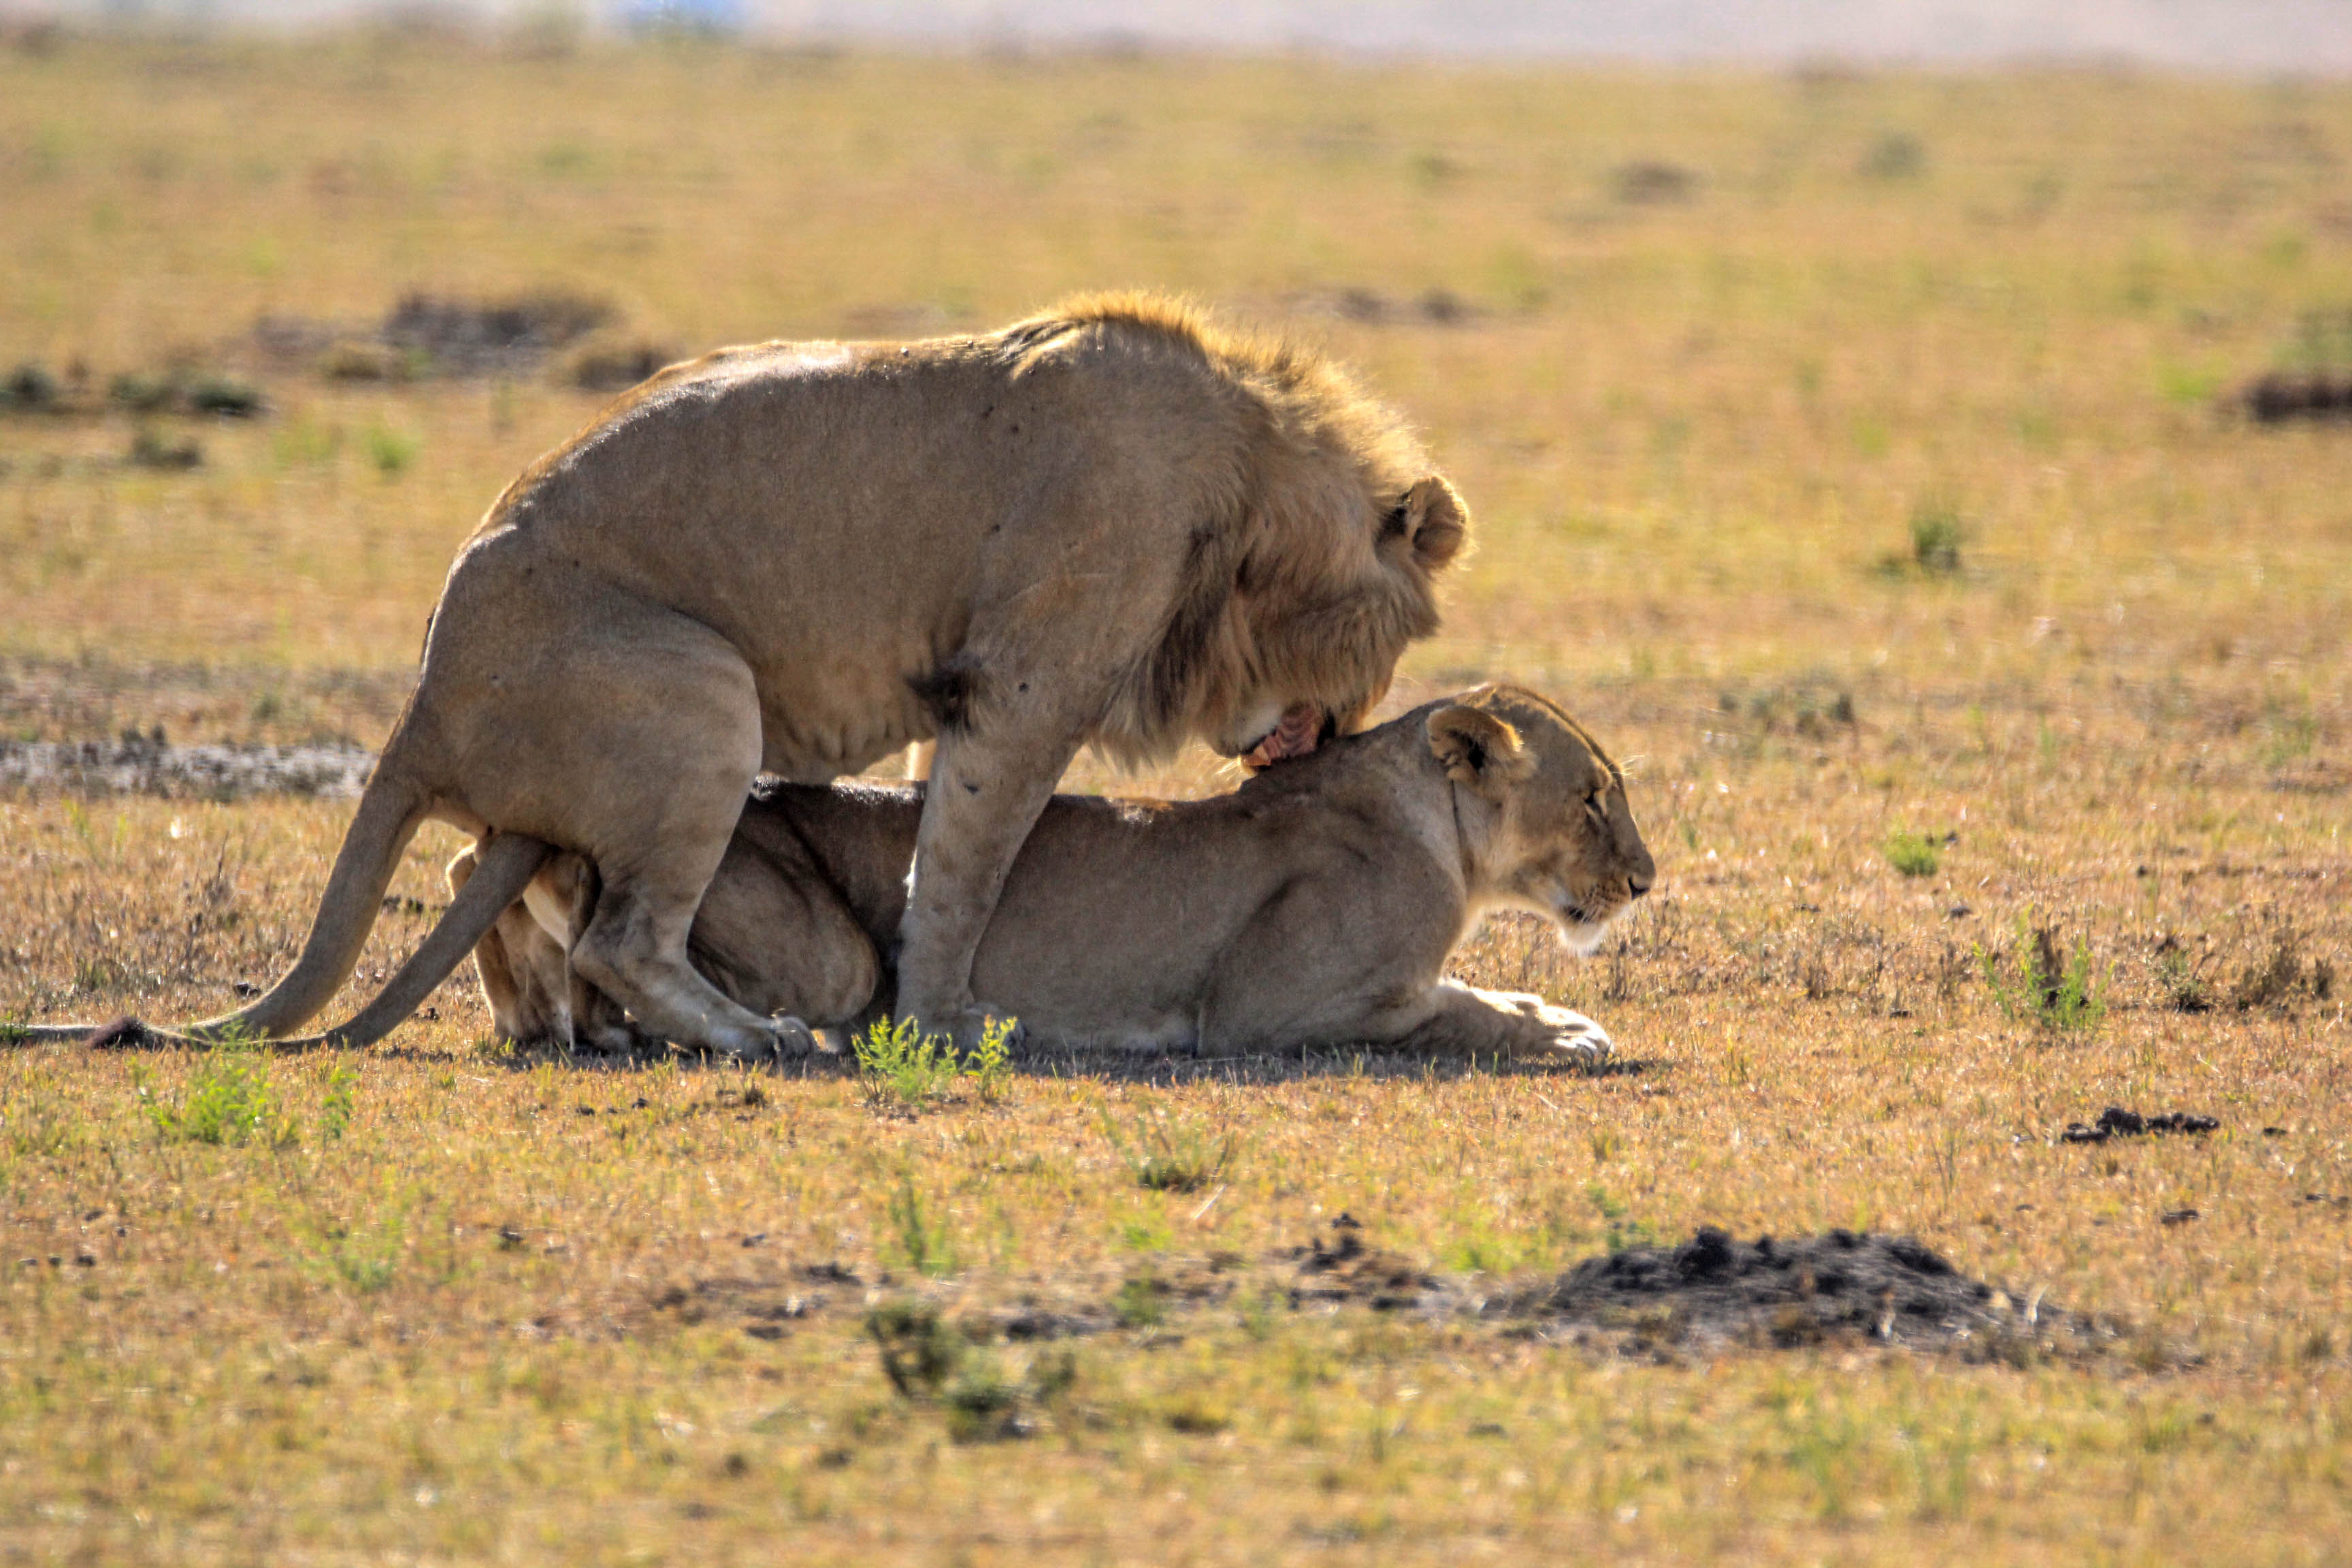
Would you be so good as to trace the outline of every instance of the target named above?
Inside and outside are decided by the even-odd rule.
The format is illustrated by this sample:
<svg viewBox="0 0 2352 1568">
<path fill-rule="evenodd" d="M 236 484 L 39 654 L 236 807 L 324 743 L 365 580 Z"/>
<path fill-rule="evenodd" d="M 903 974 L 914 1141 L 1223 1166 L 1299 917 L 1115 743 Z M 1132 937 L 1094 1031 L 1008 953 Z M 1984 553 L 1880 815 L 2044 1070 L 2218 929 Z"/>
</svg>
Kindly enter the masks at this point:
<svg viewBox="0 0 2352 1568">
<path fill-rule="evenodd" d="M 2056 1349 L 2098 1333 L 2039 1298 L 2013 1300 L 1969 1279 L 1912 1237 L 1832 1229 L 1823 1237 L 1733 1241 L 1703 1227 L 1682 1246 L 1588 1258 L 1510 1302 L 1538 1316 L 1630 1331 L 1628 1349 L 1686 1340 L 1816 1345 L 1832 1338 L 1987 1354 Z"/>
</svg>

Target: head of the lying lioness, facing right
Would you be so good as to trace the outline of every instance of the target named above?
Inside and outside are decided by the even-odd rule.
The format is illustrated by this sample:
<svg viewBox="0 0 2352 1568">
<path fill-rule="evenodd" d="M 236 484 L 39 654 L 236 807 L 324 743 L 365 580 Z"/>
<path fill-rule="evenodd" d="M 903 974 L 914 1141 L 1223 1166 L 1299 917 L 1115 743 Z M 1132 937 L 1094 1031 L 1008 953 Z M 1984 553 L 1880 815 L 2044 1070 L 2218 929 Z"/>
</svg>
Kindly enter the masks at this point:
<svg viewBox="0 0 2352 1568">
<path fill-rule="evenodd" d="M 1576 719 L 1517 686 L 1465 691 L 1430 712 L 1428 733 L 1477 806 L 1463 823 L 1472 900 L 1543 914 L 1592 952 L 1658 875 L 1625 773 Z"/>
</svg>

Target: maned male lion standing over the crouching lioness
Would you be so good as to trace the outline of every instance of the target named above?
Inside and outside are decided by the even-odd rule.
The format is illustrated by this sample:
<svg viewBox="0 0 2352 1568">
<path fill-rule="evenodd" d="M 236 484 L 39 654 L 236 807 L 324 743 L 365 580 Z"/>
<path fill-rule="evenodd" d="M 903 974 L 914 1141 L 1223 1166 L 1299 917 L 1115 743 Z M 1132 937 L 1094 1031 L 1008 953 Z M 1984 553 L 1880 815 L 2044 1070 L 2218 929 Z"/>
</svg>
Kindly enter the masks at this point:
<svg viewBox="0 0 2352 1568">
<path fill-rule="evenodd" d="M 1077 748 L 1263 762 L 1357 729 L 1465 531 L 1341 369 L 1160 299 L 670 367 L 459 550 L 301 959 L 200 1030 L 313 1018 L 437 818 L 494 835 L 449 938 L 560 846 L 600 879 L 572 966 L 604 997 L 684 1046 L 804 1048 L 694 971 L 694 910 L 757 773 L 821 783 L 936 738 L 898 1009 L 969 1039 L 1002 1006 L 974 950 Z"/>
</svg>

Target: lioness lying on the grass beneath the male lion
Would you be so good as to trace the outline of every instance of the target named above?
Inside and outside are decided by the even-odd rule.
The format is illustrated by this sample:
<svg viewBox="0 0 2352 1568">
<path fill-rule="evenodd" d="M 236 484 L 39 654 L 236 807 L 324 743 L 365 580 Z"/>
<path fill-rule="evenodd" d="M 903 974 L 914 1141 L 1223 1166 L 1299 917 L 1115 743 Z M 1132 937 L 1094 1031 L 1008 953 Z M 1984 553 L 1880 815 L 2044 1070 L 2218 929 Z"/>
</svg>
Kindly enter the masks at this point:
<svg viewBox="0 0 2352 1568">
<path fill-rule="evenodd" d="M 887 1006 L 920 832 L 915 788 L 764 790 L 689 952 L 762 1013 L 849 1025 Z M 470 853 L 452 865 L 463 889 Z M 1442 978 L 1489 910 L 1534 910 L 1590 952 L 1649 891 L 1625 778 L 1559 708 L 1484 686 L 1284 762 L 1232 795 L 1058 795 L 1014 860 L 974 966 L 1033 1039 L 1164 1051 L 1399 1044 L 1599 1060 L 1609 1034 L 1541 997 Z M 597 875 L 553 860 L 485 938 L 482 985 L 522 1041 L 630 1041 L 567 971 Z"/>
</svg>

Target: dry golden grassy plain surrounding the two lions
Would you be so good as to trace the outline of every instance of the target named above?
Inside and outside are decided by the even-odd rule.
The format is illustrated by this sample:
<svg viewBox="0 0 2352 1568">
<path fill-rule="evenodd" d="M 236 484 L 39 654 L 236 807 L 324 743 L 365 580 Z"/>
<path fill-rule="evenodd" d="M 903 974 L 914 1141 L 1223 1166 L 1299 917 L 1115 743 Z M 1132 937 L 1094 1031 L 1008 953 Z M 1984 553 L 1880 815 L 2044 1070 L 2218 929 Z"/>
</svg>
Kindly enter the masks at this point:
<svg viewBox="0 0 2352 1568">
<path fill-rule="evenodd" d="M 901 1117 L 826 1072 L 503 1060 L 452 985 L 214 1145 L 186 1112 L 242 1067 L 9 1053 L 0 1556 L 2340 1559 L 2352 437 L 2213 397 L 2331 353 L 2347 160 L 2352 89 L 2136 75 L 0 54 L 0 362 L 273 404 L 155 416 L 193 470 L 122 463 L 122 414 L 0 416 L 9 736 L 376 741 L 449 550 L 595 407 L 332 383 L 256 315 L 560 287 L 684 350 L 1162 284 L 1423 421 L 1482 545 L 1411 693 L 1562 696 L 1642 757 L 1663 872 L 1592 964 L 1519 924 L 1463 957 L 1597 1013 L 1597 1079 L 1030 1063 Z M 216 1011 L 346 813 L 0 802 L 0 1011 Z M 1985 985 L 2027 912 L 2089 945 L 2089 1027 Z M 2056 1143 L 2110 1103 L 2223 1128 Z M 1230 1161 L 1141 1187 L 1105 1126 L 1160 1117 Z M 1268 1295 L 1341 1211 L 1479 1279 L 1907 1229 L 2124 1328 L 1625 1356 Z M 868 1293 L 1129 1324 L 1028 1441 L 957 1441 Z M 1058 1347 L 988 1354 L 1054 1382 Z"/>
</svg>

